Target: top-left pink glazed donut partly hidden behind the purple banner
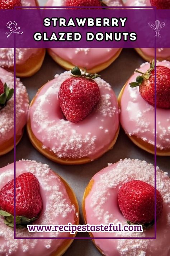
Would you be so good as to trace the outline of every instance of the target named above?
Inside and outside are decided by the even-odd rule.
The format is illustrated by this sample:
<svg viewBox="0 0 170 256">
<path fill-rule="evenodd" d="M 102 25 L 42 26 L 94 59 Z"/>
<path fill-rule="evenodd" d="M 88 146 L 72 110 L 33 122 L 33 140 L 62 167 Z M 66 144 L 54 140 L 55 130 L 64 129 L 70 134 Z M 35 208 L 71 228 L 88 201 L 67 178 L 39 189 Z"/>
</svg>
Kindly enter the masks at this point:
<svg viewBox="0 0 170 256">
<path fill-rule="evenodd" d="M 38 6 L 37 0 L 22 0 L 22 6 Z M 16 48 L 16 76 L 29 77 L 42 66 L 46 50 Z M 14 49 L 0 48 L 0 67 L 14 71 Z"/>
</svg>

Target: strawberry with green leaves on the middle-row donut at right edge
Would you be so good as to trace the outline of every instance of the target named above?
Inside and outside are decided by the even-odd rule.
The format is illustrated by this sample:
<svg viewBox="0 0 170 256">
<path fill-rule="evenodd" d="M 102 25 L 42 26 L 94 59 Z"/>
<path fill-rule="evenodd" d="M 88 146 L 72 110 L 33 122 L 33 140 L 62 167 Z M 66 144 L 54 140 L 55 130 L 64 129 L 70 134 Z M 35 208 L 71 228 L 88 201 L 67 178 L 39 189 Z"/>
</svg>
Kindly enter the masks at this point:
<svg viewBox="0 0 170 256">
<path fill-rule="evenodd" d="M 129 85 L 139 86 L 140 95 L 149 104 L 155 105 L 155 65 L 151 63 L 150 69 L 144 74 L 138 70 L 142 76 L 136 78 L 136 82 Z M 170 109 L 170 68 L 156 66 L 156 107 Z"/>
</svg>

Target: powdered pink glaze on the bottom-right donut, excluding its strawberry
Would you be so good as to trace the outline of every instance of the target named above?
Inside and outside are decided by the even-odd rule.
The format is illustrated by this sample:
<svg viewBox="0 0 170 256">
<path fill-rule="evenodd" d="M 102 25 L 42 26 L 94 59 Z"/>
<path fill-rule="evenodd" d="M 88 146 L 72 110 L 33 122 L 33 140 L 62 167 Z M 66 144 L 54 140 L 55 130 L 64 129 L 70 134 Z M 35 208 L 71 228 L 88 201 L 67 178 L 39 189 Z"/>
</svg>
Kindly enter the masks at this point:
<svg viewBox="0 0 170 256">
<path fill-rule="evenodd" d="M 121 214 L 117 194 L 123 183 L 142 180 L 154 186 L 154 166 L 145 161 L 124 159 L 96 173 L 93 187 L 85 199 L 87 223 L 91 225 L 127 224 Z M 160 191 L 164 207 L 157 220 L 157 239 L 95 239 L 95 244 L 106 256 L 169 256 L 170 232 L 170 179 L 167 173 L 157 167 L 157 189 Z M 154 226 L 143 233 L 93 233 L 94 237 L 154 237 Z"/>
</svg>

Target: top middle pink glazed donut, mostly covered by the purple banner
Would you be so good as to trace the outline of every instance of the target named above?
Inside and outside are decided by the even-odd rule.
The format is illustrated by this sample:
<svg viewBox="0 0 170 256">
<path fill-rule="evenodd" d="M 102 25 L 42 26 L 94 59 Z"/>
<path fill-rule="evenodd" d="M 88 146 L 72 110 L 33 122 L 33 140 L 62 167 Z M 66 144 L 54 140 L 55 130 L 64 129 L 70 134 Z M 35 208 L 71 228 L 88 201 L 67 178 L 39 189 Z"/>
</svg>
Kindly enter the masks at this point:
<svg viewBox="0 0 170 256">
<path fill-rule="evenodd" d="M 105 0 L 108 6 L 122 6 L 122 0 Z M 46 6 L 65 6 L 66 0 L 48 0 Z M 122 49 L 120 48 L 50 48 L 49 55 L 66 70 L 78 66 L 86 67 L 90 73 L 107 68 Z"/>
</svg>

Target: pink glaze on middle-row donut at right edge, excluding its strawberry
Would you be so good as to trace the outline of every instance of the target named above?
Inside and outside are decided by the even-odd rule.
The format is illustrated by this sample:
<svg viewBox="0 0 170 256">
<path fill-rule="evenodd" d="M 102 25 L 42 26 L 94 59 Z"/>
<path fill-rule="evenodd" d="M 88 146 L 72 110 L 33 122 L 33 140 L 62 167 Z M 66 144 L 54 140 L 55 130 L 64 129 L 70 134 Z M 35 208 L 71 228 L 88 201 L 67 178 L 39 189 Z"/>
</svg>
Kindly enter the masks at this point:
<svg viewBox="0 0 170 256">
<path fill-rule="evenodd" d="M 164 60 L 157 65 L 170 68 L 170 62 Z M 140 67 L 141 72 L 146 72 L 150 67 L 148 62 Z M 131 88 L 130 82 L 136 81 L 138 73 L 134 73 L 127 81 L 121 98 L 120 122 L 126 133 L 135 135 L 154 145 L 154 107 L 148 104 L 140 95 L 139 87 Z M 170 149 L 170 109 L 157 108 L 157 148 Z"/>
</svg>

